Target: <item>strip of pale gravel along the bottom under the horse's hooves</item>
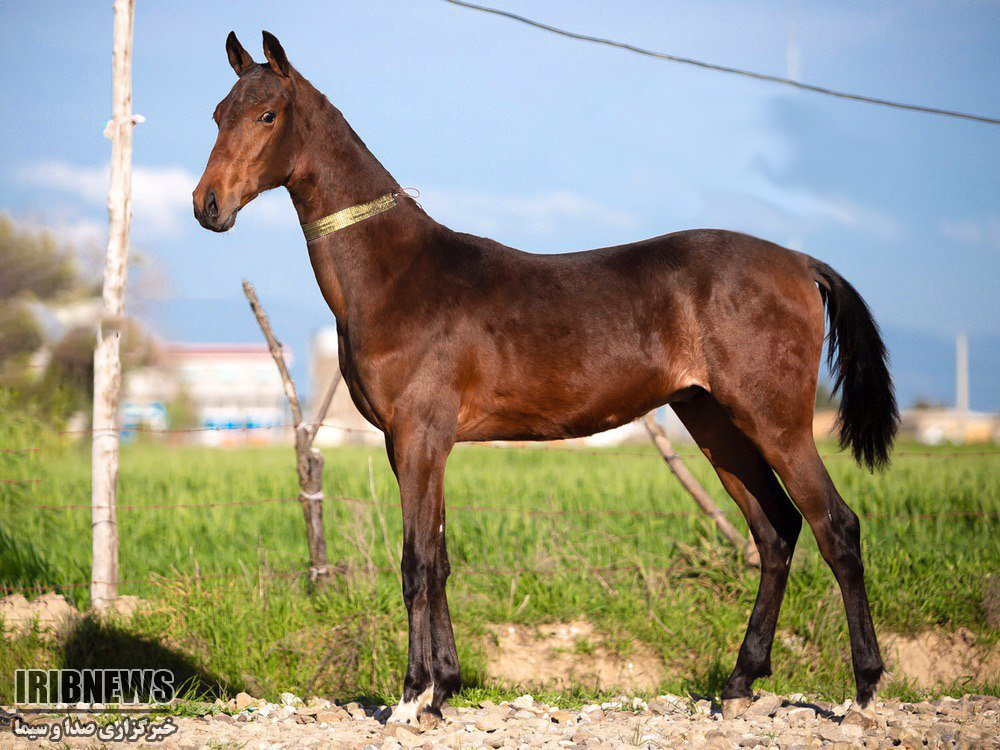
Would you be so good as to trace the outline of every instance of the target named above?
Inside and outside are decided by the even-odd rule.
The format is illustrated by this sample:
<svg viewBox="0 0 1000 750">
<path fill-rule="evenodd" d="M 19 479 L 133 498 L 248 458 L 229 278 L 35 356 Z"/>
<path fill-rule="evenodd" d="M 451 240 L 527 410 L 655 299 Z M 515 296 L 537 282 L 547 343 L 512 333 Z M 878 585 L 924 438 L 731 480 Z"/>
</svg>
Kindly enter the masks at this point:
<svg viewBox="0 0 1000 750">
<path fill-rule="evenodd" d="M 386 706 L 357 703 L 339 706 L 315 698 L 303 703 L 290 693 L 283 693 L 279 703 L 243 695 L 229 704 L 220 704 L 219 708 L 234 713 L 176 718 L 177 732 L 155 745 L 183 750 L 220 747 L 601 750 L 623 745 L 655 750 L 673 747 L 1000 750 L 1000 699 L 982 695 L 916 704 L 882 701 L 874 712 L 861 714 L 850 710 L 847 703 L 761 693 L 746 714 L 729 720 L 724 720 L 718 706 L 708 701 L 675 695 L 658 696 L 648 705 L 640 699 L 623 696 L 574 709 L 550 707 L 525 695 L 510 703 L 484 701 L 476 708 L 447 707 L 444 721 L 423 733 L 385 725 L 391 713 Z M 9 731 L 0 732 L 0 748 L 39 746 L 45 743 L 40 745 L 17 739 Z M 63 740 L 63 746 L 97 744 L 92 739 L 68 738 Z"/>
</svg>

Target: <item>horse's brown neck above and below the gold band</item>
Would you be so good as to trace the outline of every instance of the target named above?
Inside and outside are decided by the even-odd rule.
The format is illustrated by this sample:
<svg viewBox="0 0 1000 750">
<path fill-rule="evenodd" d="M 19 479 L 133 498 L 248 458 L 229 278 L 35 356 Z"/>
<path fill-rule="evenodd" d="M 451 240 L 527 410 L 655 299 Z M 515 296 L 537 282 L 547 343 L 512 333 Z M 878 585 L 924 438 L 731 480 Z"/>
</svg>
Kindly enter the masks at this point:
<svg viewBox="0 0 1000 750">
<path fill-rule="evenodd" d="M 340 113 L 320 97 L 298 136 L 300 156 L 287 183 L 303 224 L 387 193 L 397 205 L 359 224 L 309 243 L 320 289 L 339 324 L 364 317 L 378 305 L 416 255 L 428 247 L 436 226 L 355 135 Z"/>
</svg>

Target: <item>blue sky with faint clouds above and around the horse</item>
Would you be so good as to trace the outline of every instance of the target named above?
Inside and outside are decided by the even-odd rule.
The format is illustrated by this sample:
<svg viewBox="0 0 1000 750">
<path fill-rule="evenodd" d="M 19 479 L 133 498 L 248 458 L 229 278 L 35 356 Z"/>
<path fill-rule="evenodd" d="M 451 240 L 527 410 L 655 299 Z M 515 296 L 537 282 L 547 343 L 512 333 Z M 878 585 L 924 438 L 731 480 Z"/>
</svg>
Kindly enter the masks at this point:
<svg viewBox="0 0 1000 750">
<path fill-rule="evenodd" d="M 779 75 L 789 3 L 496 2 L 584 33 Z M 559 252 L 714 226 L 822 258 L 886 330 L 902 400 L 950 401 L 971 337 L 972 405 L 1000 409 L 1000 127 L 893 111 L 574 42 L 439 0 L 139 0 L 129 308 L 161 334 L 255 341 L 253 281 L 302 355 L 332 323 L 287 194 L 201 230 L 190 191 L 232 86 L 230 29 L 260 30 L 401 184 L 460 230 Z M 1000 3 L 799 0 L 800 76 L 1000 115 Z M 5 3 L 0 210 L 98 252 L 106 233 L 111 4 Z"/>
</svg>

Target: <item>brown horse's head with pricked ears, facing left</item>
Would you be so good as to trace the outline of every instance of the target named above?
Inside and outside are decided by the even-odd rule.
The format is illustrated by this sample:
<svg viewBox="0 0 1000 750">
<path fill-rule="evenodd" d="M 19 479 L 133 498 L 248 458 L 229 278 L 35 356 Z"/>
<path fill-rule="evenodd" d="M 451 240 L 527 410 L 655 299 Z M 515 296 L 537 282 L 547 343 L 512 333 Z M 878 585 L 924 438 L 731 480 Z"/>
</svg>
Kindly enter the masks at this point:
<svg viewBox="0 0 1000 750">
<path fill-rule="evenodd" d="M 243 206 L 285 184 L 296 150 L 292 102 L 298 74 L 280 42 L 264 32 L 267 64 L 259 65 L 230 32 L 226 53 L 239 80 L 212 115 L 219 136 L 193 195 L 195 218 L 213 232 L 230 229 Z"/>
</svg>

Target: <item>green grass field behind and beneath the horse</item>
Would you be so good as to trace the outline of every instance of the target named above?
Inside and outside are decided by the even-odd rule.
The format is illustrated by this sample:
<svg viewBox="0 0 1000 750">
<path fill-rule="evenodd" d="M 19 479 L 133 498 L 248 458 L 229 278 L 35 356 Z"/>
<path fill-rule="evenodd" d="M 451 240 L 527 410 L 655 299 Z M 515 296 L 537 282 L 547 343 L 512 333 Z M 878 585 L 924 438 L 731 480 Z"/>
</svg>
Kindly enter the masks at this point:
<svg viewBox="0 0 1000 750">
<path fill-rule="evenodd" d="M 89 443 L 67 444 L 9 414 L 0 417 L 0 442 L 7 451 L 0 453 L 0 477 L 32 480 L 0 485 L 0 586 L 59 590 L 85 607 L 87 588 L 73 584 L 89 579 L 90 512 L 38 505 L 86 506 Z M 10 452 L 21 450 L 32 452 Z M 307 562 L 295 502 L 210 505 L 294 497 L 290 447 L 127 446 L 119 502 L 137 507 L 119 511 L 121 575 L 137 582 L 122 590 L 152 608 L 127 626 L 88 623 L 58 645 L 37 634 L 8 644 L 0 650 L 0 702 L 10 699 L 14 668 L 69 665 L 173 667 L 199 689 L 218 684 L 272 698 L 290 690 L 391 700 L 406 647 L 395 573 L 401 538 L 395 481 L 381 450 L 328 449 L 325 456 L 328 496 L 370 499 L 373 491 L 384 504 L 331 499 L 325 505 L 329 557 L 347 572 L 316 592 L 301 577 L 283 575 Z M 842 456 L 827 463 L 864 517 L 868 589 L 880 632 L 966 628 L 995 643 L 983 597 L 989 576 L 1000 573 L 1000 455 L 900 456 L 874 476 Z M 745 529 L 707 463 L 697 458 L 689 465 Z M 662 655 L 669 676 L 661 691 L 721 689 L 757 574 L 691 512 L 692 502 L 651 446 L 459 447 L 448 464 L 446 494 L 455 571 L 449 596 L 467 685 L 460 699 L 498 692 L 484 673 L 490 623 L 579 619 L 594 623 L 613 648 L 627 652 L 640 640 Z M 156 507 L 178 503 L 191 507 Z M 525 512 L 532 510 L 599 512 Z M 621 569 L 600 572 L 598 580 L 592 568 L 603 566 Z M 808 531 L 796 551 L 779 631 L 791 638 L 775 644 L 775 673 L 759 686 L 849 697 L 840 594 Z M 974 682 L 941 687 L 998 690 Z M 914 692 L 897 680 L 884 694 Z M 581 685 L 551 699 L 572 702 L 593 693 Z"/>
</svg>

